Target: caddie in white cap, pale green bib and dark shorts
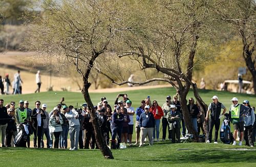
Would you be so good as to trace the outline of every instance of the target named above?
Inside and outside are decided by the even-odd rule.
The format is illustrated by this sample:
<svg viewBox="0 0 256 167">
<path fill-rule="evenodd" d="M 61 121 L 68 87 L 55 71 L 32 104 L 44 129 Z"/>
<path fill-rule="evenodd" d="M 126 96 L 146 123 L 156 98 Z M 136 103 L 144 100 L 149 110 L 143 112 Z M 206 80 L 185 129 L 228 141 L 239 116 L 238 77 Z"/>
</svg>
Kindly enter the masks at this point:
<svg viewBox="0 0 256 167">
<path fill-rule="evenodd" d="M 238 98 L 233 97 L 230 101 L 232 101 L 232 105 L 229 108 L 229 116 L 231 118 L 231 122 L 234 126 L 234 142 L 233 145 L 237 144 L 237 135 L 238 131 L 240 131 L 240 140 L 239 146 L 242 146 L 242 140 L 244 138 L 244 116 L 249 111 L 249 107 L 238 104 Z"/>
</svg>

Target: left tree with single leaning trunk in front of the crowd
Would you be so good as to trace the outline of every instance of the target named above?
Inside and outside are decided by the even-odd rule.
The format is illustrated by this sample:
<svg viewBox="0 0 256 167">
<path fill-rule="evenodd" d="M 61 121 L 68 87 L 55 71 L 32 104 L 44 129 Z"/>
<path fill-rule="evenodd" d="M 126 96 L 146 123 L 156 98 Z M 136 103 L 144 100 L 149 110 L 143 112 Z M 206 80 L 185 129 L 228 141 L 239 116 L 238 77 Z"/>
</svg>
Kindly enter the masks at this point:
<svg viewBox="0 0 256 167">
<path fill-rule="evenodd" d="M 121 2 L 122 3 L 122 2 Z M 93 102 L 88 92 L 92 69 L 117 33 L 127 30 L 118 1 L 45 1 L 41 17 L 29 31 L 28 49 L 59 56 L 67 67 L 73 64 L 83 80 L 82 94 L 92 110 L 96 142 L 105 158 L 114 158 L 103 141 Z"/>
</svg>

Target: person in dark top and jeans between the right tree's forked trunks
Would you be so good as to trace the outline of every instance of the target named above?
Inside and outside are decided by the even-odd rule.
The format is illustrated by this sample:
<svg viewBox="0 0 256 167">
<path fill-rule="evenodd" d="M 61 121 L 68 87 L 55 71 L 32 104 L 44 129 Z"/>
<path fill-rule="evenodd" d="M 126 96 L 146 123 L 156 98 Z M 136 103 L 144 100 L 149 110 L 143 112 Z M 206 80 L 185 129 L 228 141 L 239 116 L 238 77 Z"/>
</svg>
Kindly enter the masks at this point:
<svg viewBox="0 0 256 167">
<path fill-rule="evenodd" d="M 194 130 L 198 132 L 197 131 L 197 115 L 199 114 L 199 108 L 195 104 L 195 100 L 192 97 L 190 97 L 188 100 L 187 109 L 188 109 Z"/>
</svg>

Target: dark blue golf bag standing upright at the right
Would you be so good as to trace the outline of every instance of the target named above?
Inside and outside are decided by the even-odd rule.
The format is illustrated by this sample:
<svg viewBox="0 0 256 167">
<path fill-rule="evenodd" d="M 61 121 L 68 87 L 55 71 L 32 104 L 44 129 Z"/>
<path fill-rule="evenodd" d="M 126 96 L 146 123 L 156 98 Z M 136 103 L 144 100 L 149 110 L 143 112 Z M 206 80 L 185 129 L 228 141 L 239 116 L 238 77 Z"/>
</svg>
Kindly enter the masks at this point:
<svg viewBox="0 0 256 167">
<path fill-rule="evenodd" d="M 225 119 L 221 124 L 220 139 L 224 144 L 233 143 L 233 134 L 230 129 L 230 118 L 228 114 L 225 114 Z"/>
</svg>

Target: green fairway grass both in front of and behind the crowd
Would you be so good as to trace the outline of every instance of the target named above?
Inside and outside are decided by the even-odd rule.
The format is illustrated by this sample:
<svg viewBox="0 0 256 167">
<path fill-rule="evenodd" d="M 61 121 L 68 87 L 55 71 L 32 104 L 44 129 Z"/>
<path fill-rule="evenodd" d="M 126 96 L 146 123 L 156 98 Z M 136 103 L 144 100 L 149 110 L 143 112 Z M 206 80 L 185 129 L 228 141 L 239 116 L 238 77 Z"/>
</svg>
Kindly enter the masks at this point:
<svg viewBox="0 0 256 167">
<path fill-rule="evenodd" d="M 55 93 L 57 94 L 55 95 Z M 152 100 L 156 99 L 159 105 L 162 105 L 166 96 L 173 96 L 176 94 L 176 90 L 173 88 L 159 88 L 120 93 L 127 93 L 132 100 L 132 106 L 136 109 L 140 105 L 140 101 L 148 95 L 151 96 Z M 109 104 L 113 106 L 117 94 L 91 93 L 91 98 L 94 105 L 96 105 L 100 98 L 104 96 L 108 99 Z M 199 90 L 199 94 L 207 105 L 211 102 L 211 97 L 217 95 L 220 102 L 224 103 L 227 109 L 231 104 L 230 99 L 234 96 L 238 97 L 239 103 L 248 99 L 251 106 L 256 106 L 256 97 L 253 95 L 209 90 Z M 76 106 L 76 103 L 78 103 L 79 106 L 84 102 L 81 93 L 73 92 L 0 96 L 5 100 L 4 104 L 10 103 L 10 101 L 15 101 L 17 104 L 20 99 L 28 100 L 31 108 L 34 107 L 36 100 L 40 100 L 41 103 L 48 105 L 48 112 L 60 102 L 61 97 L 65 97 L 67 105 Z M 192 91 L 189 92 L 188 97 L 193 97 Z M 161 136 L 160 130 L 160 138 Z M 135 141 L 135 132 L 133 141 Z M 0 166 L 6 166 L 7 164 L 7 166 L 256 166 L 255 148 L 224 145 L 220 140 L 219 144 L 158 142 L 154 143 L 153 146 L 146 145 L 142 148 L 133 146 L 124 150 L 112 150 L 112 152 L 114 160 L 104 159 L 99 150 L 0 148 L 0 160 L 2 160 Z M 22 164 L 20 164 L 21 162 Z"/>
</svg>

